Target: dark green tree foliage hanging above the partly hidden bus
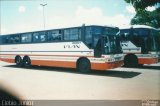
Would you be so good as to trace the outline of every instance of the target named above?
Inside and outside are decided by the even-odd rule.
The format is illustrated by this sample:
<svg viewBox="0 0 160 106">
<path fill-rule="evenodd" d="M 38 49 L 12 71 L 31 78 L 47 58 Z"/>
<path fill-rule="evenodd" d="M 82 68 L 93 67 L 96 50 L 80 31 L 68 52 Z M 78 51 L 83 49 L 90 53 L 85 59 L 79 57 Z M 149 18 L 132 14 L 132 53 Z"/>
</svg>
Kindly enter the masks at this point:
<svg viewBox="0 0 160 106">
<path fill-rule="evenodd" d="M 160 28 L 160 7 L 154 11 L 146 11 L 146 7 L 155 6 L 160 3 L 160 0 L 125 0 L 133 5 L 136 10 L 136 15 L 132 18 L 131 24 L 149 25 L 155 28 Z"/>
</svg>

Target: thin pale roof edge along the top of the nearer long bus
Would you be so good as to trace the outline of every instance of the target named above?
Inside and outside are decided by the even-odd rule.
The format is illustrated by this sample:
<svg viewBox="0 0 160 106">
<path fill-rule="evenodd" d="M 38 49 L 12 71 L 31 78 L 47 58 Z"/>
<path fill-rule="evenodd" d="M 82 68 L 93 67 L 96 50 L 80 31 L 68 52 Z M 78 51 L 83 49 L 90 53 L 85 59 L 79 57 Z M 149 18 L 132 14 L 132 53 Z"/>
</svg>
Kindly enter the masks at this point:
<svg viewBox="0 0 160 106">
<path fill-rule="evenodd" d="M 85 24 L 82 25 L 82 26 L 85 26 Z M 19 32 L 19 33 L 9 33 L 9 34 L 2 34 L 1 36 L 3 36 L 3 35 L 14 35 L 14 34 L 32 33 L 32 32 L 51 31 L 51 30 L 61 30 L 61 29 L 63 30 L 63 29 L 70 29 L 70 28 L 79 28 L 79 27 L 82 27 L 82 26 L 66 27 L 66 28 L 55 28 L 55 29 L 45 29 L 45 30 L 28 31 L 28 32 Z M 110 28 L 118 28 L 118 27 L 109 26 L 109 25 L 105 25 L 105 26 L 102 26 L 102 25 L 86 25 L 85 27 L 110 27 Z"/>
</svg>

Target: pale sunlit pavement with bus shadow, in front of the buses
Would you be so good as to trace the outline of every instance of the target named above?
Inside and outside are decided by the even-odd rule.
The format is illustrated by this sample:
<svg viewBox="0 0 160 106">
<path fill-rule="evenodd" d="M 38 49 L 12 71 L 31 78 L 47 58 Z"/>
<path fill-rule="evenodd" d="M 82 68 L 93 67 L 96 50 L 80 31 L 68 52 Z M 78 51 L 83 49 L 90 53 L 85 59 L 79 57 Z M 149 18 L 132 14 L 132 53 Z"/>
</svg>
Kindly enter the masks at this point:
<svg viewBox="0 0 160 106">
<path fill-rule="evenodd" d="M 73 69 L 24 69 L 0 62 L 0 84 L 32 100 L 160 100 L 160 64 L 81 74 Z"/>
</svg>

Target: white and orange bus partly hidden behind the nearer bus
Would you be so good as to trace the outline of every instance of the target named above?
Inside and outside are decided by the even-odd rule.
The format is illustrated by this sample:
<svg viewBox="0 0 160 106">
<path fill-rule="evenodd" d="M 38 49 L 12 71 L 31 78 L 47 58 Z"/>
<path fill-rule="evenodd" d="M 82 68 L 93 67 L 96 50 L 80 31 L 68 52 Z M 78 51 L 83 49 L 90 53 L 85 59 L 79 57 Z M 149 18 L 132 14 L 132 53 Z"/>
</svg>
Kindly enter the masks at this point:
<svg viewBox="0 0 160 106">
<path fill-rule="evenodd" d="M 158 63 L 160 36 L 157 29 L 146 25 L 121 28 L 120 39 L 125 54 L 124 66 L 137 67 Z"/>
</svg>

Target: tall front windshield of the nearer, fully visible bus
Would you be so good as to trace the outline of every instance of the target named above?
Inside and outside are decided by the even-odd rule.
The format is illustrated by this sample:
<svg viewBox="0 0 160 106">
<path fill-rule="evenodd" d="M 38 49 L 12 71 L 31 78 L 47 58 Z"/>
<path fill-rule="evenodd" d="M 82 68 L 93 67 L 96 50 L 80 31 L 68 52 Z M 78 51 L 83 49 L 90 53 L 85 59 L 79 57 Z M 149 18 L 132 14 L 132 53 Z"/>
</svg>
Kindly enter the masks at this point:
<svg viewBox="0 0 160 106">
<path fill-rule="evenodd" d="M 116 54 L 122 53 L 119 29 L 118 28 L 106 28 L 104 33 L 104 53 L 105 54 Z"/>
</svg>

